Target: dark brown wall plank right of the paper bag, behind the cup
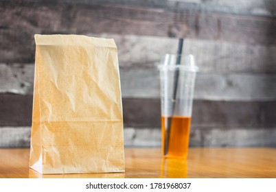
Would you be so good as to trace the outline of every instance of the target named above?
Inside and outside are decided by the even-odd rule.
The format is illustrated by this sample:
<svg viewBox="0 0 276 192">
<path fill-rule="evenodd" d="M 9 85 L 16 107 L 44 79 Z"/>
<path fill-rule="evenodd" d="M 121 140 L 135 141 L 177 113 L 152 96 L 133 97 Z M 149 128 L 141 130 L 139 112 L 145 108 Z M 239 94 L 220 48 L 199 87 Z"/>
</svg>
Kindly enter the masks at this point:
<svg viewBox="0 0 276 192">
<path fill-rule="evenodd" d="M 200 128 L 274 128 L 276 102 L 194 100 L 192 125 Z M 129 127 L 160 127 L 160 99 L 123 99 Z"/>
</svg>

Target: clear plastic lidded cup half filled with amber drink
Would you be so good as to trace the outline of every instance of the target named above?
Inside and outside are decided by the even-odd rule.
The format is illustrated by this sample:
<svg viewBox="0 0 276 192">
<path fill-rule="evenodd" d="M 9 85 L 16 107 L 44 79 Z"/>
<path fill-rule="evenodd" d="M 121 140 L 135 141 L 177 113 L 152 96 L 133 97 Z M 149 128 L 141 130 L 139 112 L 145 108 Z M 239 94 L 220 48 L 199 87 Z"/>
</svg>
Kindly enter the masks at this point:
<svg viewBox="0 0 276 192">
<path fill-rule="evenodd" d="M 194 56 L 165 55 L 159 65 L 163 156 L 187 158 L 196 67 Z"/>
</svg>

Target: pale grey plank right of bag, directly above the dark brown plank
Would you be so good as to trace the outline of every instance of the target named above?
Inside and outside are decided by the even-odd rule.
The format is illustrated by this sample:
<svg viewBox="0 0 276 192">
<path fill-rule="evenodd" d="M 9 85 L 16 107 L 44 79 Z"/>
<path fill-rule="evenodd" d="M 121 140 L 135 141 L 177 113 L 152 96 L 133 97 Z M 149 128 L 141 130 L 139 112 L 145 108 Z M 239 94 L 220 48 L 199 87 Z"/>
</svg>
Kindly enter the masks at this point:
<svg viewBox="0 0 276 192">
<path fill-rule="evenodd" d="M 159 98 L 159 71 L 121 69 L 123 97 Z M 198 73 L 194 99 L 211 101 L 275 101 L 276 75 L 260 73 Z"/>
</svg>

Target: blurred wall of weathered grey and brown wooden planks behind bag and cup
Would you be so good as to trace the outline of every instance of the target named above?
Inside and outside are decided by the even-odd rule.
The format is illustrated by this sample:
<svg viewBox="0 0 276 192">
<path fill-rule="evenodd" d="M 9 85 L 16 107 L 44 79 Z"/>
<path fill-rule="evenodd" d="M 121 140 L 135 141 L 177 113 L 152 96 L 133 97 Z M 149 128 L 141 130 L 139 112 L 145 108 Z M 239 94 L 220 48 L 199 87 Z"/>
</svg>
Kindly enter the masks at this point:
<svg viewBox="0 0 276 192">
<path fill-rule="evenodd" d="M 276 147 L 275 0 L 0 0 L 0 147 L 29 147 L 34 34 L 114 38 L 126 146 L 161 146 L 165 53 L 192 53 L 190 146 Z"/>
</svg>

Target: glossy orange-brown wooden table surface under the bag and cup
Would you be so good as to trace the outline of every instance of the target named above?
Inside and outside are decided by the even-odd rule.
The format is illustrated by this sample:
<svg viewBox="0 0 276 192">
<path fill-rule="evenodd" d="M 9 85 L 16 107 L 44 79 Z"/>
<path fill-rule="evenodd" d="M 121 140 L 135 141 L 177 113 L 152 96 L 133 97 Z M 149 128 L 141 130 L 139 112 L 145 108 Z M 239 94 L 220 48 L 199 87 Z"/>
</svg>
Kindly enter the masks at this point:
<svg viewBox="0 0 276 192">
<path fill-rule="evenodd" d="M 125 173 L 42 175 L 29 169 L 30 149 L 0 149 L 0 178 L 276 178 L 276 148 L 190 148 L 187 160 L 160 148 L 126 148 Z"/>
</svg>

